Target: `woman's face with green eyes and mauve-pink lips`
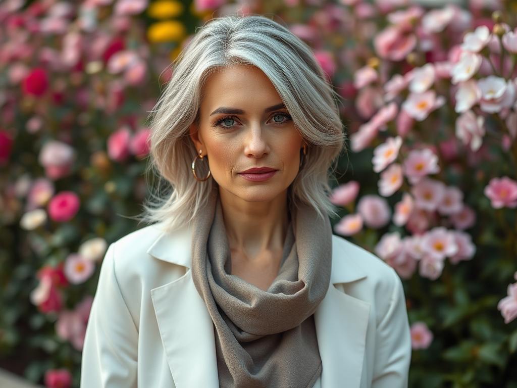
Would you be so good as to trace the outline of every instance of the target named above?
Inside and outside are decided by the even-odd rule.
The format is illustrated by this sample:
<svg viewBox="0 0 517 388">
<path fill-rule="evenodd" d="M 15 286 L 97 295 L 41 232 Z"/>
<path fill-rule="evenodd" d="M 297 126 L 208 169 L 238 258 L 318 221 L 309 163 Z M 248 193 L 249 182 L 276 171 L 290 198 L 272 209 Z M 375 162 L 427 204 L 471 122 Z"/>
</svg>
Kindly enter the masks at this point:
<svg viewBox="0 0 517 388">
<path fill-rule="evenodd" d="M 220 189 L 247 202 L 285 195 L 306 143 L 262 70 L 232 65 L 212 73 L 200 113 L 200 126 L 192 124 L 190 136 L 197 152 L 208 156 Z"/>
</svg>

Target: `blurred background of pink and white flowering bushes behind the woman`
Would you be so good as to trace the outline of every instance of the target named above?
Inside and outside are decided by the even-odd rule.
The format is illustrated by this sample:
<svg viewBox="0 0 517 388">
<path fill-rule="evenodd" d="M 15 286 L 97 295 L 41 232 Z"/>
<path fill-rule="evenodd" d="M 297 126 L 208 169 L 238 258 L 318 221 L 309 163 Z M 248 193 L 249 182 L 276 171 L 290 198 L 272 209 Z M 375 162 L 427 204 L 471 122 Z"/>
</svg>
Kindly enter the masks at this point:
<svg viewBox="0 0 517 388">
<path fill-rule="evenodd" d="M 0 2 L 0 369 L 79 386 L 104 253 L 155 187 L 149 111 L 231 13 L 289 28 L 342 97 L 333 228 L 403 279 L 409 386 L 517 388 L 514 0 Z"/>
</svg>

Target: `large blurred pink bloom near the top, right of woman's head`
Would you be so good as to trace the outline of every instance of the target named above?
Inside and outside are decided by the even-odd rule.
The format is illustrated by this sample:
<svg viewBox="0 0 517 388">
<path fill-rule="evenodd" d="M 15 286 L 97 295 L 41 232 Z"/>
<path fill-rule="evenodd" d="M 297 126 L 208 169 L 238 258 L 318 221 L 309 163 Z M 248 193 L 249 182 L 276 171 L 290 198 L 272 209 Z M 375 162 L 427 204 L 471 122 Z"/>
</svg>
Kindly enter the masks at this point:
<svg viewBox="0 0 517 388">
<path fill-rule="evenodd" d="M 414 34 L 404 34 L 399 27 L 389 26 L 373 40 L 377 55 L 390 61 L 402 61 L 416 47 Z"/>
</svg>

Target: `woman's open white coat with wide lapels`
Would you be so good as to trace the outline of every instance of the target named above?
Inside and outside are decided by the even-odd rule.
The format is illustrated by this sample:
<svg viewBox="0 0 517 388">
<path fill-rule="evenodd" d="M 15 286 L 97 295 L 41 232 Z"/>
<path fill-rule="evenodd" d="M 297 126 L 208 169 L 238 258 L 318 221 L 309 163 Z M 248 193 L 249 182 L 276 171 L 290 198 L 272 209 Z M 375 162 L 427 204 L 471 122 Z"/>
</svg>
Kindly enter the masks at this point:
<svg viewBox="0 0 517 388">
<path fill-rule="evenodd" d="M 214 325 L 190 271 L 191 231 L 165 233 L 158 226 L 132 232 L 106 252 L 81 388 L 219 386 Z M 382 260 L 333 236 L 330 285 L 314 321 L 323 364 L 318 387 L 407 386 L 404 292 Z"/>
</svg>

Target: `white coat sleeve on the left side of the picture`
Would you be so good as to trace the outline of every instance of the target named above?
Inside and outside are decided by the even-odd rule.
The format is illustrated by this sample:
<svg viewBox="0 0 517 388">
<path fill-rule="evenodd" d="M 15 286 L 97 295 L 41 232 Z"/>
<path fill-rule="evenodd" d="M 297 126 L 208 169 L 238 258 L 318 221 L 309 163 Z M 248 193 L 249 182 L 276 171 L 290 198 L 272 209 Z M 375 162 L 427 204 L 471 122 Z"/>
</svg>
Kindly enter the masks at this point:
<svg viewBox="0 0 517 388">
<path fill-rule="evenodd" d="M 136 388 L 138 331 L 120 292 L 114 244 L 102 262 L 86 327 L 81 388 Z"/>
</svg>

